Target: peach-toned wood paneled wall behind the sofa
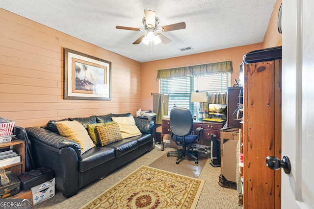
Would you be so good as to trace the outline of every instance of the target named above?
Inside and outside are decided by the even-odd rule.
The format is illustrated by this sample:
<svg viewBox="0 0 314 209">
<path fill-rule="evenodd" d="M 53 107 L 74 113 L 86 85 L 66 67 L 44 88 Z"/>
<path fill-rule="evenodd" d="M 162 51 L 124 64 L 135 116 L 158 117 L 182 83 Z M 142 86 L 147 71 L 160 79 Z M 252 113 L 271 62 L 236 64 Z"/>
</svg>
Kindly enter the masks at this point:
<svg viewBox="0 0 314 209">
<path fill-rule="evenodd" d="M 0 31 L 0 117 L 29 127 L 140 108 L 141 63 L 1 8 Z M 63 99 L 64 48 L 111 62 L 110 101 Z"/>
</svg>

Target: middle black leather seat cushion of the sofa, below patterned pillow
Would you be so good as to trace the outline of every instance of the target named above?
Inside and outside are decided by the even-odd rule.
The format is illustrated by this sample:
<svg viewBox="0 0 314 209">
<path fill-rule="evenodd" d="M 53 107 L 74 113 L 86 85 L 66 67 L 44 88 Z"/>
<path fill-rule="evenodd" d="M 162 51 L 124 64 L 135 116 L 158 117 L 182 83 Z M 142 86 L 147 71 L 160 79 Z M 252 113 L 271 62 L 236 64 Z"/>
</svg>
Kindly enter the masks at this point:
<svg viewBox="0 0 314 209">
<path fill-rule="evenodd" d="M 106 147 L 111 147 L 115 149 L 115 156 L 119 158 L 132 150 L 137 149 L 137 140 L 123 139 L 121 141 L 116 141 L 111 144 L 106 145 Z"/>
</svg>

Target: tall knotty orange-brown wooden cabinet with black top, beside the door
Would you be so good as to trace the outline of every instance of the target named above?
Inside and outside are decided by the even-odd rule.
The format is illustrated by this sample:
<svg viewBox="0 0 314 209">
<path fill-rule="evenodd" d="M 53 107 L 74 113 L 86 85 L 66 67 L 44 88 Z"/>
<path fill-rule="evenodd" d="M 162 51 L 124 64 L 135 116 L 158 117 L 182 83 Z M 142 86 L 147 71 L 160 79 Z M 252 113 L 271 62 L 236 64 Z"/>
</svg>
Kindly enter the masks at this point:
<svg viewBox="0 0 314 209">
<path fill-rule="evenodd" d="M 271 170 L 265 162 L 267 156 L 282 159 L 281 47 L 253 55 L 250 60 L 248 54 L 249 63 L 244 62 L 243 207 L 280 209 L 281 169 Z"/>
</svg>

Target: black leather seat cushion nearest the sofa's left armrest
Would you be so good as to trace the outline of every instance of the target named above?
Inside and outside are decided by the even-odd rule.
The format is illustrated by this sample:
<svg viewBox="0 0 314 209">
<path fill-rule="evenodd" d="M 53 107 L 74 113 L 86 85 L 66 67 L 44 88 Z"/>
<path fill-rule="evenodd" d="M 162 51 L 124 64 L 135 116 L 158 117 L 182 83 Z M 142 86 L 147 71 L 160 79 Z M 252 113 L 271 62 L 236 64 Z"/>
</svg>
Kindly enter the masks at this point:
<svg viewBox="0 0 314 209">
<path fill-rule="evenodd" d="M 78 171 L 84 172 L 114 158 L 114 148 L 96 146 L 80 156 L 78 159 Z"/>
</svg>

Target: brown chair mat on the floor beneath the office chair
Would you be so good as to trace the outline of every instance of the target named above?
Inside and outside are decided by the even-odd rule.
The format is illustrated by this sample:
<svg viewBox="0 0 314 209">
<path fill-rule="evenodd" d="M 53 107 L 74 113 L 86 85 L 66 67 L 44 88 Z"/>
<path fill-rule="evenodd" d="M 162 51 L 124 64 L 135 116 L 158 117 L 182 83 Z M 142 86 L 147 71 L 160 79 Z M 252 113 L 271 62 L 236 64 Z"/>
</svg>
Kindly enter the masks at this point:
<svg viewBox="0 0 314 209">
<path fill-rule="evenodd" d="M 189 156 L 185 156 L 185 158 L 180 160 L 179 164 L 176 164 L 176 158 L 177 157 L 174 155 L 167 157 L 167 152 L 165 152 L 164 155 L 149 164 L 149 166 L 192 178 L 198 178 L 208 160 L 208 157 L 201 153 L 198 155 L 198 164 L 196 164 L 194 159 Z"/>
</svg>

